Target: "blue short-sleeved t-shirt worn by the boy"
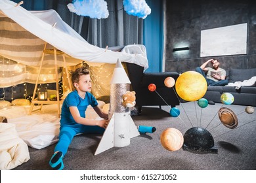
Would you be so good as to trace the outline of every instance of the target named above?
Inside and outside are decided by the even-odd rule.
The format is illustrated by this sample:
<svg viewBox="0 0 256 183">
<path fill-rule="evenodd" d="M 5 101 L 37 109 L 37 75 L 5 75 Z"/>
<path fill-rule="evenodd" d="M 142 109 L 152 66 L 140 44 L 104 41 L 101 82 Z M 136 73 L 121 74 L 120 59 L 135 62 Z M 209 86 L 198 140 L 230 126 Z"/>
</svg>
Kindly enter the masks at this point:
<svg viewBox="0 0 256 183">
<path fill-rule="evenodd" d="M 80 116 L 85 118 L 85 110 L 87 109 L 88 105 L 92 107 L 96 107 L 98 102 L 96 101 L 95 97 L 89 93 L 85 93 L 85 99 L 82 99 L 76 90 L 70 92 L 66 99 L 64 99 L 61 114 L 60 114 L 60 124 L 63 125 L 74 125 L 77 124 L 75 122 L 71 112 L 70 107 L 77 107 L 80 113 Z"/>
</svg>

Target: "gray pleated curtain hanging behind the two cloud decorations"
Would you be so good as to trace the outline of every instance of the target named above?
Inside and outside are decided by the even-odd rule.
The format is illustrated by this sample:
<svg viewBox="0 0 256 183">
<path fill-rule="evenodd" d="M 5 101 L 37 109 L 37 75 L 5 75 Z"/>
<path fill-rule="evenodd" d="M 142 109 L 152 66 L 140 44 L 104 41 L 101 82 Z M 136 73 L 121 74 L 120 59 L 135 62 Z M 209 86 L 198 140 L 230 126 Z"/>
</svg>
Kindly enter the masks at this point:
<svg viewBox="0 0 256 183">
<path fill-rule="evenodd" d="M 90 44 L 101 48 L 142 44 L 143 20 L 127 14 L 123 9 L 123 0 L 106 0 L 106 2 L 110 13 L 108 18 L 84 17 L 81 36 Z"/>
</svg>

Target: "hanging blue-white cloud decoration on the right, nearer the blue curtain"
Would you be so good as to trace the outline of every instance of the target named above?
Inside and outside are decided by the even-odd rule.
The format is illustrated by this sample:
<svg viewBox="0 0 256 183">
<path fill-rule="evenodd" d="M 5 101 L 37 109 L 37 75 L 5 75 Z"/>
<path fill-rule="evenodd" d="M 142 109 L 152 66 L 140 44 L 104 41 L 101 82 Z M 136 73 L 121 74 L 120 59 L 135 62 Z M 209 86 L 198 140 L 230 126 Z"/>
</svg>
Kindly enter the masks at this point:
<svg viewBox="0 0 256 183">
<path fill-rule="evenodd" d="M 145 0 L 123 0 L 123 7 L 127 14 L 143 19 L 151 13 L 151 9 Z"/>
</svg>

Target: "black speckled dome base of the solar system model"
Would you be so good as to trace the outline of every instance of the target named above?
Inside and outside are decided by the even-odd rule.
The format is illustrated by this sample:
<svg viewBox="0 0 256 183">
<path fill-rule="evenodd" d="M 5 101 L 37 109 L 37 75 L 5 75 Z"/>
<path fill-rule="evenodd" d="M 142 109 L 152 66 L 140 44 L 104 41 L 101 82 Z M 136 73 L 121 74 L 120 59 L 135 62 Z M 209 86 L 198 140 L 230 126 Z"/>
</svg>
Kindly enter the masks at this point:
<svg viewBox="0 0 256 183">
<path fill-rule="evenodd" d="M 217 153 L 214 147 L 213 136 L 202 127 L 192 127 L 184 134 L 184 150 Z"/>
</svg>

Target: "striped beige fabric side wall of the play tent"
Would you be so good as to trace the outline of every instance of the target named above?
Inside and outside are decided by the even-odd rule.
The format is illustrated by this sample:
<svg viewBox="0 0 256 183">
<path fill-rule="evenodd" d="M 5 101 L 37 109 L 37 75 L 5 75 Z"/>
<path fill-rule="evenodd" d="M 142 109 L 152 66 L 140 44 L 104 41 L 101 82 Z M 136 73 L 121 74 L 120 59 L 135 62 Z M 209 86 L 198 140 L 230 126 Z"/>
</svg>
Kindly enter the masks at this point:
<svg viewBox="0 0 256 183">
<path fill-rule="evenodd" d="M 43 56 L 45 42 L 13 20 L 0 14 L 0 88 L 7 88 L 24 82 L 35 83 Z M 53 46 L 47 44 L 47 48 Z M 81 61 L 65 56 L 67 65 Z M 63 65 L 62 56 L 57 56 L 58 65 Z M 71 62 L 71 64 L 69 63 Z M 39 83 L 55 82 L 54 55 L 45 54 Z M 58 80 L 62 69 L 58 67 Z"/>
</svg>

